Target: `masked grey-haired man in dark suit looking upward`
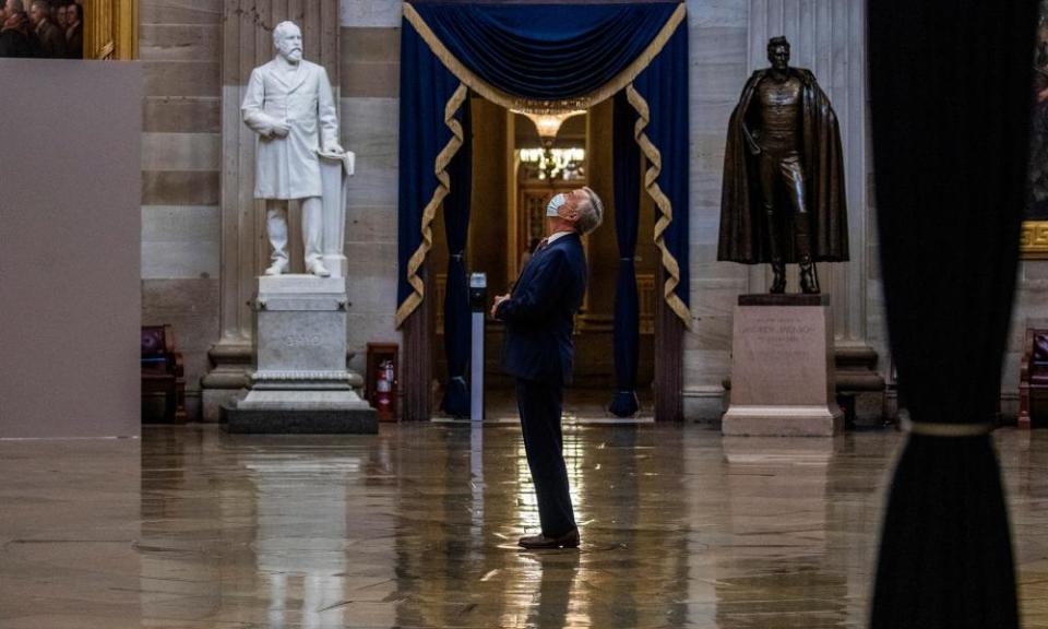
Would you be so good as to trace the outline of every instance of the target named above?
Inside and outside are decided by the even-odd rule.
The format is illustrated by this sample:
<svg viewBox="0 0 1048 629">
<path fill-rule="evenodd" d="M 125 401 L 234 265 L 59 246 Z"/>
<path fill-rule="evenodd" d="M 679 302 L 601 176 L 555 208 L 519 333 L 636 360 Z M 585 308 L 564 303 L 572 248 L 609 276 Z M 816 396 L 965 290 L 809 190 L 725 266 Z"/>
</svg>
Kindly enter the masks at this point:
<svg viewBox="0 0 1048 629">
<path fill-rule="evenodd" d="M 538 497 L 543 532 L 524 548 L 575 548 L 579 529 L 568 490 L 560 428 L 563 387 L 571 383 L 574 316 L 586 292 L 581 236 L 600 225 L 604 205 L 590 188 L 558 194 L 547 207 L 548 236 L 521 272 L 513 293 L 495 298 L 505 322 L 505 370 L 516 377 L 524 450 Z"/>
</svg>

